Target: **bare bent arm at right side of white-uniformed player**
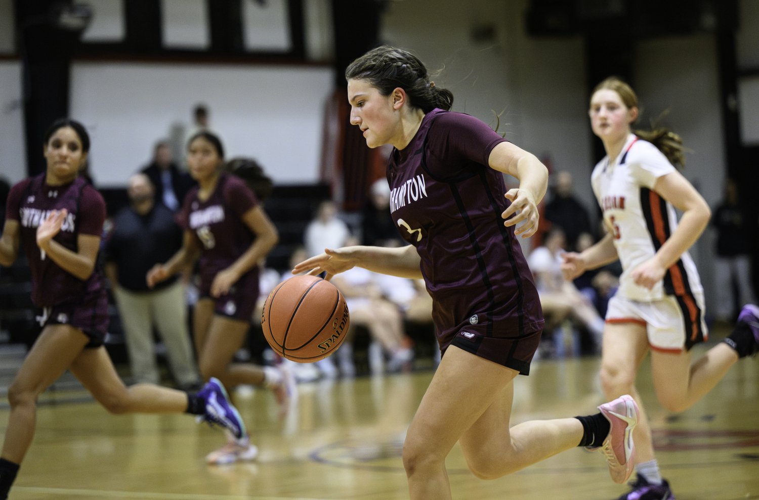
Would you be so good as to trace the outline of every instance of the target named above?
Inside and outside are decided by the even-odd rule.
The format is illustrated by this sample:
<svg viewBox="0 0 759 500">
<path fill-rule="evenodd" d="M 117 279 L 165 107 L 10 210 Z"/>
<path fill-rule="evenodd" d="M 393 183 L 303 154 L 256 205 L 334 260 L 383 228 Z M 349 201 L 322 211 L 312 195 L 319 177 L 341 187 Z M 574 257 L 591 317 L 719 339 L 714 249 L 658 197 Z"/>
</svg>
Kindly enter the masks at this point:
<svg viewBox="0 0 759 500">
<path fill-rule="evenodd" d="M 652 259 L 637 266 L 631 273 L 637 285 L 653 288 L 669 269 L 677 262 L 685 250 L 695 242 L 711 217 L 711 210 L 701 194 L 678 171 L 657 179 L 653 190 L 665 200 L 682 210 L 682 218 L 672 233 Z"/>
</svg>

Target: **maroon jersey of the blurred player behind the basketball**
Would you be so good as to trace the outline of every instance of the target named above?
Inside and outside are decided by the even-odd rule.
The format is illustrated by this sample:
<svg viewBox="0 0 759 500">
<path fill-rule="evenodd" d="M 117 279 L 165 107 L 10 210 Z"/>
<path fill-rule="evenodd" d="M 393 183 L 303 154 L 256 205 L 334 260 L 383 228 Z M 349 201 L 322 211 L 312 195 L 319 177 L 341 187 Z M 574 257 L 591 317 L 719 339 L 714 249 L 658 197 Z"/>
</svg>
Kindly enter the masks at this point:
<svg viewBox="0 0 759 500">
<path fill-rule="evenodd" d="M 209 288 L 216 273 L 231 266 L 253 244 L 255 234 L 243 222 L 245 212 L 257 206 L 256 195 L 235 175 L 222 174 L 216 189 L 205 201 L 197 197 L 194 187 L 184 198 L 178 214 L 183 228 L 193 231 L 200 254 L 201 292 Z M 251 272 L 258 272 L 254 267 Z"/>
</svg>

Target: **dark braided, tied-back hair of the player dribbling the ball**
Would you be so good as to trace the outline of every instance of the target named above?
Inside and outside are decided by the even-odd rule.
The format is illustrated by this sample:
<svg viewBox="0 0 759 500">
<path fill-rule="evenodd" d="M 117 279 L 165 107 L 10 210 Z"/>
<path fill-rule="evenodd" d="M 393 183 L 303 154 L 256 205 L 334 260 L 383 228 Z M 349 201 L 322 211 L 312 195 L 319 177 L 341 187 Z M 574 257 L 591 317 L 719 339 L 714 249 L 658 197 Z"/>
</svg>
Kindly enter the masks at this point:
<svg viewBox="0 0 759 500">
<path fill-rule="evenodd" d="M 345 79 L 367 80 L 383 96 L 400 87 L 411 107 L 425 113 L 434 108 L 449 111 L 453 105 L 453 93 L 430 81 L 424 63 L 411 52 L 395 47 L 377 47 L 357 58 L 345 70 Z"/>
</svg>

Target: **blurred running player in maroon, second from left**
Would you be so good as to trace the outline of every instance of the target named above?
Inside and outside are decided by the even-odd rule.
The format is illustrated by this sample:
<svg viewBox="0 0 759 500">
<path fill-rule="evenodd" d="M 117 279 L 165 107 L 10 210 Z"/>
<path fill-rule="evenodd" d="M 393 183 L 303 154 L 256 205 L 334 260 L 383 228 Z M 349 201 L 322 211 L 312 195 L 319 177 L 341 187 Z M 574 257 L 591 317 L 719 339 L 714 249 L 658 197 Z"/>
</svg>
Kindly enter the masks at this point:
<svg viewBox="0 0 759 500">
<path fill-rule="evenodd" d="M 216 135 L 201 131 L 187 145 L 187 166 L 198 182 L 178 215 L 184 245 L 172 259 L 147 273 L 151 288 L 200 258 L 200 300 L 193 327 L 203 378 L 216 377 L 226 388 L 265 385 L 272 389 L 281 413 L 295 393 L 294 378 L 285 367 L 232 363 L 250 328 L 258 297 L 260 259 L 279 240 L 276 228 L 245 182 L 222 171 L 224 148 Z M 209 464 L 249 461 L 257 448 L 248 436 L 234 439 L 206 457 Z"/>
</svg>

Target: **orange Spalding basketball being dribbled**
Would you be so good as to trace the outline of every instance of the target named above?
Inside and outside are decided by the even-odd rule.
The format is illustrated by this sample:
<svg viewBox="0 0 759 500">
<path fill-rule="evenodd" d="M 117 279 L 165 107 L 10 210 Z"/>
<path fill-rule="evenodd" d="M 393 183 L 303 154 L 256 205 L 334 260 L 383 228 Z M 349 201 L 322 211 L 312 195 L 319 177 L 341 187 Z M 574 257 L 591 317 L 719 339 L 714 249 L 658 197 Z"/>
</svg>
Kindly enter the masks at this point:
<svg viewBox="0 0 759 500">
<path fill-rule="evenodd" d="M 345 297 L 317 276 L 293 276 L 277 285 L 261 314 L 266 341 L 282 357 L 298 363 L 323 360 L 348 332 Z"/>
</svg>

